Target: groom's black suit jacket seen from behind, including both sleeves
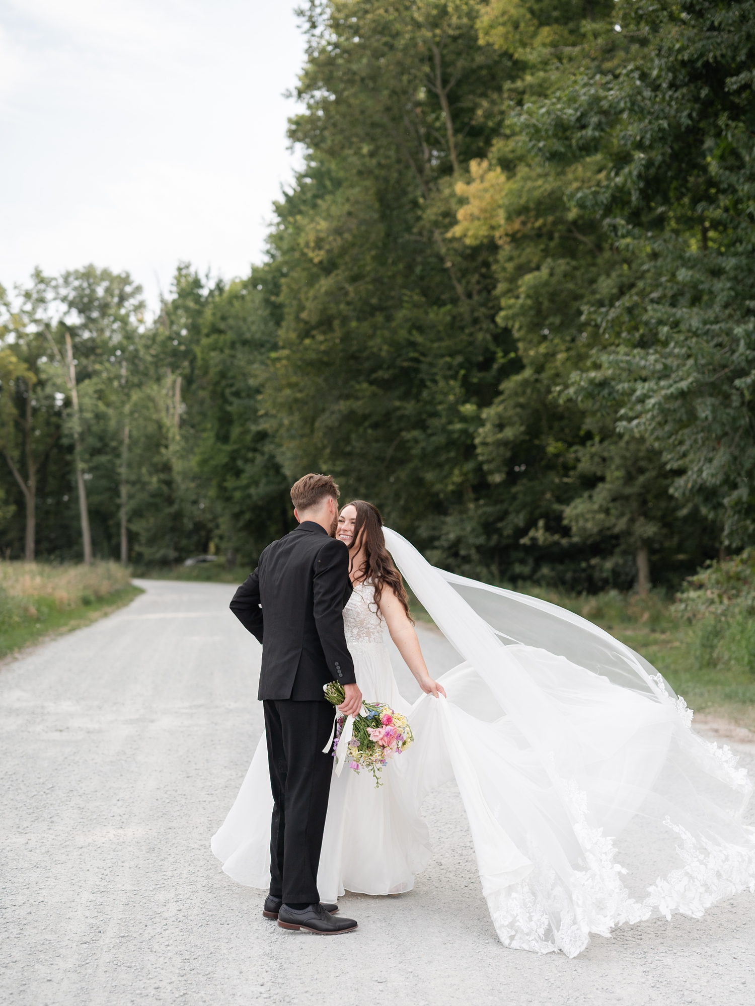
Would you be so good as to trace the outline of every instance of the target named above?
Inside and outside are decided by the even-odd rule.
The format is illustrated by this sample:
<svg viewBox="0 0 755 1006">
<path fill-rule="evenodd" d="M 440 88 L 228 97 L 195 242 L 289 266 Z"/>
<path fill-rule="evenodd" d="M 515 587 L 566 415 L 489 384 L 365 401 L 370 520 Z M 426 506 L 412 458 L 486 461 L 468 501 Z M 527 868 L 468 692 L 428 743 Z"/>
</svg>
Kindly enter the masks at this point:
<svg viewBox="0 0 755 1006">
<path fill-rule="evenodd" d="M 334 678 L 355 684 L 343 632 L 348 549 L 305 520 L 263 551 L 231 611 L 262 643 L 261 699 L 325 700 Z"/>
</svg>

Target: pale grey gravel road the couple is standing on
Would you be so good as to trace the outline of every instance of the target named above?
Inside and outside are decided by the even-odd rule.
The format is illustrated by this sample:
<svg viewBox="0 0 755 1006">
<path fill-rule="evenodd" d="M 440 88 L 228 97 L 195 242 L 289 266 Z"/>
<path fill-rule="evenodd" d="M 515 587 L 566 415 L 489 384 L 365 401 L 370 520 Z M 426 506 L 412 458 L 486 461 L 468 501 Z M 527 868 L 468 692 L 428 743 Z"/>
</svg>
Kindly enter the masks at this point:
<svg viewBox="0 0 755 1006">
<path fill-rule="evenodd" d="M 232 586 L 138 582 L 128 608 L 0 667 L 1 1002 L 755 1002 L 748 893 L 596 937 L 573 961 L 505 950 L 452 786 L 425 805 L 435 854 L 415 890 L 341 900 L 355 934 L 264 919 L 264 894 L 209 851 L 262 730 L 259 647 Z M 442 637 L 422 639 L 451 666 Z"/>
</svg>

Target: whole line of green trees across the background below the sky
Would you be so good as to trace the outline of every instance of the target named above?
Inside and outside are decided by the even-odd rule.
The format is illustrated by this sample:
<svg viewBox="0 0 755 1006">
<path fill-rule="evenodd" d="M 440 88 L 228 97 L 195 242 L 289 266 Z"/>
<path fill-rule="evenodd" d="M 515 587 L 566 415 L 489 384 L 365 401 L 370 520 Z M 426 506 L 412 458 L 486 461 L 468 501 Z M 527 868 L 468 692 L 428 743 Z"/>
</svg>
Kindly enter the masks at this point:
<svg viewBox="0 0 755 1006">
<path fill-rule="evenodd" d="M 649 589 L 753 542 L 755 3 L 313 0 L 265 261 L 3 295 L 0 542 L 250 563 L 332 473 L 428 557 Z"/>
</svg>

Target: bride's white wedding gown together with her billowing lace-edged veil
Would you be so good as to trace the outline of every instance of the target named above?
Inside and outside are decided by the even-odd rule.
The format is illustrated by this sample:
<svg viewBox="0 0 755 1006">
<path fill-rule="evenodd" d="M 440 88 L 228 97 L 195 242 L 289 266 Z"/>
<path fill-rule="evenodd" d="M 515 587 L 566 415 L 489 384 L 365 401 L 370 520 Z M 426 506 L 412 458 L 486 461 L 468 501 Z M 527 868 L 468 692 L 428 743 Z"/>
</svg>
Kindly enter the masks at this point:
<svg viewBox="0 0 755 1006">
<path fill-rule="evenodd" d="M 368 775 L 333 774 L 323 900 L 344 888 L 410 890 L 430 857 L 422 802 L 450 779 L 507 947 L 573 957 L 590 934 L 653 914 L 700 916 L 755 890 L 747 773 L 692 730 L 684 699 L 650 664 L 571 612 L 435 569 L 388 528 L 386 542 L 462 662 L 438 679 L 447 700 L 406 702 L 371 585 L 354 591 L 344 626 L 359 687 L 406 713 L 416 740 L 378 790 Z M 212 839 L 240 883 L 269 885 L 271 812 L 263 736 Z"/>
</svg>

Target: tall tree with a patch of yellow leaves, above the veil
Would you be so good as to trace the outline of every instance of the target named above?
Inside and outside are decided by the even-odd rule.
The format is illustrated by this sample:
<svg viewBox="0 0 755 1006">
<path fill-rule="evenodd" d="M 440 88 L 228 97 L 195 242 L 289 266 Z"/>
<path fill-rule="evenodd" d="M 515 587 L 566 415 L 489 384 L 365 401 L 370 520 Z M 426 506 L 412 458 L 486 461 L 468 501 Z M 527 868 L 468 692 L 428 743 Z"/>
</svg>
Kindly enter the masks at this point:
<svg viewBox="0 0 755 1006">
<path fill-rule="evenodd" d="M 530 578 L 557 563 L 561 576 L 571 568 L 575 586 L 591 585 L 580 581 L 587 539 L 567 533 L 564 512 L 583 488 L 575 466 L 586 457 L 595 424 L 562 388 L 600 340 L 585 304 L 614 303 L 632 259 L 595 207 L 580 201 L 586 187 L 599 183 L 606 159 L 594 150 L 558 157 L 544 149 L 531 123 L 575 74 L 624 64 L 627 46 L 609 23 L 614 9 L 613 3 L 496 0 L 481 11 L 482 40 L 505 53 L 516 74 L 502 93 L 503 128 L 488 156 L 472 161 L 468 177 L 456 183 L 463 203 L 450 231 L 468 245 L 493 243 L 496 321 L 513 342 L 512 365 L 482 410 L 475 438 L 477 458 L 496 488 L 478 508 L 481 539 L 505 554 L 507 575 Z M 605 440 L 605 423 L 601 434 Z"/>
</svg>

